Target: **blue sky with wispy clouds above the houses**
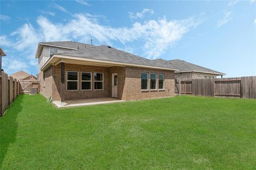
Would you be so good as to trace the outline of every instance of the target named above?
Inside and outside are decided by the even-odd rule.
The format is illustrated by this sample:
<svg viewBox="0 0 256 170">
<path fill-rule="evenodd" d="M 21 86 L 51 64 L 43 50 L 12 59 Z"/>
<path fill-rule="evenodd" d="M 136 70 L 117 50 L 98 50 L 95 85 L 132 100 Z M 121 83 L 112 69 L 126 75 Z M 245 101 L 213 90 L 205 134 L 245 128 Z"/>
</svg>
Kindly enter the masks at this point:
<svg viewBox="0 0 256 170">
<path fill-rule="evenodd" d="M 1 1 L 3 69 L 37 74 L 38 42 L 110 45 L 142 57 L 181 59 L 256 75 L 253 1 Z"/>
</svg>

